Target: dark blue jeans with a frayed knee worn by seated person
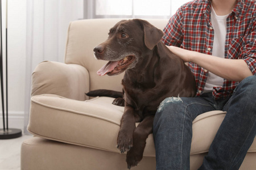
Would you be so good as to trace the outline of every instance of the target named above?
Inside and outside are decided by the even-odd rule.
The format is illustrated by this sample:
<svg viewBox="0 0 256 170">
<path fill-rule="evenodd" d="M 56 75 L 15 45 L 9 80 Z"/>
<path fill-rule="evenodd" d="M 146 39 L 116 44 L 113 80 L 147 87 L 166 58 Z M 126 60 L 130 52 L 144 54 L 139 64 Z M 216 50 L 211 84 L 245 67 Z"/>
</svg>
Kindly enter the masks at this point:
<svg viewBox="0 0 256 170">
<path fill-rule="evenodd" d="M 242 80 L 229 99 L 168 97 L 156 112 L 156 169 L 189 169 L 192 121 L 205 112 L 227 111 L 200 169 L 238 169 L 256 134 L 256 76 Z"/>
</svg>

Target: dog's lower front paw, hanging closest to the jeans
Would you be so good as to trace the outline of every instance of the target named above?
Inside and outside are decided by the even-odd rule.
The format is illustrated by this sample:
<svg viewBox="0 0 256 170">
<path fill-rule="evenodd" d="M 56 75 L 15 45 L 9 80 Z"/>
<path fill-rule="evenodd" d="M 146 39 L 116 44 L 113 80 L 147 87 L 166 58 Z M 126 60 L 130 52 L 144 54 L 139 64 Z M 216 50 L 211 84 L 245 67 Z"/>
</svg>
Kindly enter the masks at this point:
<svg viewBox="0 0 256 170">
<path fill-rule="evenodd" d="M 135 167 L 138 165 L 138 163 L 142 160 L 143 152 L 134 150 L 131 148 L 130 151 L 126 154 L 126 162 L 127 162 L 127 168 L 131 169 L 131 167 Z"/>
</svg>

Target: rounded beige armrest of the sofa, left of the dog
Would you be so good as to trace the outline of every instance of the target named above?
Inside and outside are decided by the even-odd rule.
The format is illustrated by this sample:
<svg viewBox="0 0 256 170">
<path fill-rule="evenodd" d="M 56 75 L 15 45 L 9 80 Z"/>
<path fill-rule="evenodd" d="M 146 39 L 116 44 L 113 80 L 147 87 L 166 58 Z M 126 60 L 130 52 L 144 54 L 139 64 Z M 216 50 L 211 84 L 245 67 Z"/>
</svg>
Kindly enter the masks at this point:
<svg viewBox="0 0 256 170">
<path fill-rule="evenodd" d="M 55 94 L 69 99 L 89 99 L 89 73 L 76 64 L 44 61 L 32 74 L 31 95 Z"/>
</svg>

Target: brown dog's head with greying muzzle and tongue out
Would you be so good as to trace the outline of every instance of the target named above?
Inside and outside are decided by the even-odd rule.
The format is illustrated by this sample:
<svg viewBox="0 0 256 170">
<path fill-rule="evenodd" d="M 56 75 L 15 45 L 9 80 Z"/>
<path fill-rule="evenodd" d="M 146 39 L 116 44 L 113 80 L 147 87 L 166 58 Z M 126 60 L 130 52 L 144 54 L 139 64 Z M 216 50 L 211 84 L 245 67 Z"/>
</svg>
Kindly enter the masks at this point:
<svg viewBox="0 0 256 170">
<path fill-rule="evenodd" d="M 137 65 L 143 53 L 152 50 L 163 32 L 145 20 L 122 20 L 109 31 L 105 42 L 93 49 L 97 59 L 109 61 L 98 75 L 117 75 Z"/>
</svg>

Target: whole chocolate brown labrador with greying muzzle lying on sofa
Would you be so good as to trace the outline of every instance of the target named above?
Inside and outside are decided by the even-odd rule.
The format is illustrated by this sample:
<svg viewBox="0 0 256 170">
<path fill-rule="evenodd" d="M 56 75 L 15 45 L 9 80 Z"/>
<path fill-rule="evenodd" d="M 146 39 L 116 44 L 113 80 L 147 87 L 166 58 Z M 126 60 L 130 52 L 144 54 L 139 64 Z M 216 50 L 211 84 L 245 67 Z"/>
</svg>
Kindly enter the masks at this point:
<svg viewBox="0 0 256 170">
<path fill-rule="evenodd" d="M 94 48 L 97 59 L 109 61 L 98 75 L 117 75 L 122 80 L 125 112 L 117 138 L 117 148 L 127 151 L 127 167 L 142 160 L 146 139 L 152 133 L 154 115 L 166 97 L 195 96 L 193 74 L 182 59 L 161 42 L 163 32 L 145 20 L 122 20 L 109 31 L 105 42 Z M 104 94 L 105 93 L 105 94 Z M 112 96 L 112 91 L 96 90 L 89 96 Z M 122 96 L 121 92 L 118 97 Z M 122 105 L 122 103 L 119 103 Z M 135 126 L 135 122 L 140 124 Z"/>
</svg>

